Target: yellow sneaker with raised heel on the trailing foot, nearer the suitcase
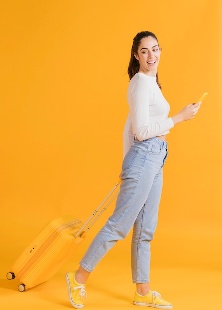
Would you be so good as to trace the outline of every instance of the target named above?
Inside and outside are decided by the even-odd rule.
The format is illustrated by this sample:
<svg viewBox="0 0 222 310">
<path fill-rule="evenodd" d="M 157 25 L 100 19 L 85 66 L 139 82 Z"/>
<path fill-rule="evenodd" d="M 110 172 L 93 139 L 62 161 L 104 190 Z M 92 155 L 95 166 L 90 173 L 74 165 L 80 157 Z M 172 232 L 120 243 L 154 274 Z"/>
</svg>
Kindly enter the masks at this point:
<svg viewBox="0 0 222 310">
<path fill-rule="evenodd" d="M 83 308 L 84 304 L 82 300 L 87 297 L 85 291 L 85 284 L 79 284 L 75 281 L 76 271 L 68 272 L 66 274 L 66 282 L 69 289 L 69 300 L 74 308 Z"/>
</svg>

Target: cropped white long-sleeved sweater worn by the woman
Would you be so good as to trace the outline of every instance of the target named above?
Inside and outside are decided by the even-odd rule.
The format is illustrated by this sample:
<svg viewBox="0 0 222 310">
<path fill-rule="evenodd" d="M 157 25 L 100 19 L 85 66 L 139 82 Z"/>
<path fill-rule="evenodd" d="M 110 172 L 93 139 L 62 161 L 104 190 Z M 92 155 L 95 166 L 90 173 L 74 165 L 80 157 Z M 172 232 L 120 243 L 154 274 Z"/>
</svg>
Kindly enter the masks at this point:
<svg viewBox="0 0 222 310">
<path fill-rule="evenodd" d="M 169 103 L 156 83 L 156 77 L 136 73 L 130 80 L 127 101 L 129 114 L 123 132 L 124 156 L 138 140 L 146 140 L 169 133 L 174 127 L 172 118 L 168 118 Z"/>
</svg>

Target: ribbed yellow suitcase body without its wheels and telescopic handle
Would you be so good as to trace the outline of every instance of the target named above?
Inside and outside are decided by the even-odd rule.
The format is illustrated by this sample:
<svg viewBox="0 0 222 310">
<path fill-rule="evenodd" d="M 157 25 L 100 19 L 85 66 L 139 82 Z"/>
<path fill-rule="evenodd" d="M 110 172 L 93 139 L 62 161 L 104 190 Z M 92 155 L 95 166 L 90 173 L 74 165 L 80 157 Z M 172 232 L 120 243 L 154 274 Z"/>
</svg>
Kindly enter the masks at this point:
<svg viewBox="0 0 222 310">
<path fill-rule="evenodd" d="M 51 278 L 72 256 L 83 240 L 74 236 L 81 227 L 82 222 L 73 215 L 58 217 L 46 225 L 11 266 L 10 271 L 25 289 Z"/>
</svg>

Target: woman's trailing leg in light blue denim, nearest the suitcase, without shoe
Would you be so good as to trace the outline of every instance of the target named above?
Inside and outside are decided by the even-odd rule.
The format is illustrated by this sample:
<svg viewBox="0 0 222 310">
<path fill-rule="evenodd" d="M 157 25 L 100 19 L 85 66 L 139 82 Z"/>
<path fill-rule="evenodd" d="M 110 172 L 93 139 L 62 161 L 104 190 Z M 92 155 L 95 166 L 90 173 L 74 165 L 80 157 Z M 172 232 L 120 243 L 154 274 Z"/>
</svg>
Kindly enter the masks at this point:
<svg viewBox="0 0 222 310">
<path fill-rule="evenodd" d="M 153 163 L 150 164 L 152 169 L 145 167 L 147 155 L 147 150 L 134 148 L 126 155 L 123 163 L 123 181 L 114 213 L 94 238 L 80 262 L 86 271 L 92 272 L 108 250 L 118 240 L 124 239 L 133 227 L 147 200 L 155 175 L 160 170 L 159 165 Z"/>
</svg>

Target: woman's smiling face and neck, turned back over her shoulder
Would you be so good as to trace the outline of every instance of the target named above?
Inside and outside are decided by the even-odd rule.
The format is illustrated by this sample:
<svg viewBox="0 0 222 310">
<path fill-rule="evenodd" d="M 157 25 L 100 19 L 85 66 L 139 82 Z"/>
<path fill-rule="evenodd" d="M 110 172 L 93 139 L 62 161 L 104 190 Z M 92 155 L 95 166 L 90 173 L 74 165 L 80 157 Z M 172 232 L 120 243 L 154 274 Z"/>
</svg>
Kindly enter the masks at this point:
<svg viewBox="0 0 222 310">
<path fill-rule="evenodd" d="M 156 76 L 160 53 L 160 48 L 155 38 L 151 36 L 143 38 L 137 53 L 134 53 L 135 58 L 140 64 L 139 72 Z"/>
</svg>

